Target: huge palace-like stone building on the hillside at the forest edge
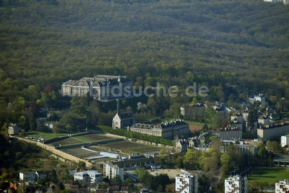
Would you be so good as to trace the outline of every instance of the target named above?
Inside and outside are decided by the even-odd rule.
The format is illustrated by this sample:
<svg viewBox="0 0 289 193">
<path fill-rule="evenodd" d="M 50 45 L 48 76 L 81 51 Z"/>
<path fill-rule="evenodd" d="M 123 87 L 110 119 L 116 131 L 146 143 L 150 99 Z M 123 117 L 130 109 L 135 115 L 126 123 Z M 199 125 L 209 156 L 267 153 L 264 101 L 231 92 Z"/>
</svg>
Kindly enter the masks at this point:
<svg viewBox="0 0 289 193">
<path fill-rule="evenodd" d="M 133 83 L 125 76 L 97 75 L 93 78 L 84 77 L 78 81 L 68 80 L 62 83 L 62 96 L 90 96 L 103 100 L 132 94 Z"/>
</svg>

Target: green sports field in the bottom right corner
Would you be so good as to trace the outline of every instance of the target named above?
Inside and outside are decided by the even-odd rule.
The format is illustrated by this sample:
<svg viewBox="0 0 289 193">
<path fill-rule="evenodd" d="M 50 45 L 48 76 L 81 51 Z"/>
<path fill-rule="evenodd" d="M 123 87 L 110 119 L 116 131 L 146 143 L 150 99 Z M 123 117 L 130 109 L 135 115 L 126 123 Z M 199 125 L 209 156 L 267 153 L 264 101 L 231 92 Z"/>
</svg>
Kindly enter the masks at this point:
<svg viewBox="0 0 289 193">
<path fill-rule="evenodd" d="M 276 181 L 289 179 L 289 167 L 255 167 L 251 168 L 246 174 L 249 183 L 251 183 L 251 180 L 257 180 L 259 182 L 267 181 L 272 185 Z"/>
</svg>

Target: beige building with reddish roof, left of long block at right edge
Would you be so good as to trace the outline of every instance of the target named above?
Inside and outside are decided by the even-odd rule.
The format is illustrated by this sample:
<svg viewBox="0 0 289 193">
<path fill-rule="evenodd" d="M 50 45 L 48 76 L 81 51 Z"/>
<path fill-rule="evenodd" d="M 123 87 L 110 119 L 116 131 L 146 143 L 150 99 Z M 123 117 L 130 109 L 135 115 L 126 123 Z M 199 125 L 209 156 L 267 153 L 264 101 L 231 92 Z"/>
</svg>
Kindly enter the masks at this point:
<svg viewBox="0 0 289 193">
<path fill-rule="evenodd" d="M 210 134 L 215 135 L 220 139 L 227 139 L 227 138 L 242 139 L 242 130 L 238 128 L 212 129 L 210 130 Z"/>
</svg>

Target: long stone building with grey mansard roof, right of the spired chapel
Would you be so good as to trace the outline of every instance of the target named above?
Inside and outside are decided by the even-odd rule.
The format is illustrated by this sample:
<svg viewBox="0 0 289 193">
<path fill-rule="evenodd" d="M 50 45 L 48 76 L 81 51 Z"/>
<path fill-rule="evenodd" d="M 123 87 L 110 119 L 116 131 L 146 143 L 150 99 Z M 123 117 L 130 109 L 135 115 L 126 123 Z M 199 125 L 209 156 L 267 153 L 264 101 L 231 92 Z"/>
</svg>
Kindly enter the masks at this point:
<svg viewBox="0 0 289 193">
<path fill-rule="evenodd" d="M 173 140 L 176 135 L 188 137 L 190 134 L 189 125 L 184 122 L 184 120 L 170 121 L 158 125 L 136 123 L 130 128 L 127 128 L 127 130 L 171 140 Z"/>
</svg>

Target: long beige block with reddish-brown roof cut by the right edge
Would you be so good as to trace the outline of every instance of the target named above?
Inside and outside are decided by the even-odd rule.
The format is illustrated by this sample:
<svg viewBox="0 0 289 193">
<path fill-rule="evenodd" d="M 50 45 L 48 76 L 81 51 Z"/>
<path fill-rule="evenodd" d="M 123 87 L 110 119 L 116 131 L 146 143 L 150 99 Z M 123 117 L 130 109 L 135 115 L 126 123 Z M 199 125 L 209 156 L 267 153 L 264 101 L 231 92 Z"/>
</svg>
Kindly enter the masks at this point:
<svg viewBox="0 0 289 193">
<path fill-rule="evenodd" d="M 268 141 L 274 138 L 280 138 L 282 135 L 286 135 L 289 132 L 289 121 L 284 123 L 260 126 L 257 129 L 258 139 L 261 141 Z"/>
</svg>

